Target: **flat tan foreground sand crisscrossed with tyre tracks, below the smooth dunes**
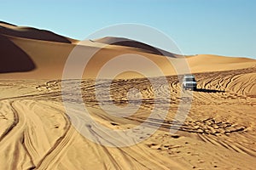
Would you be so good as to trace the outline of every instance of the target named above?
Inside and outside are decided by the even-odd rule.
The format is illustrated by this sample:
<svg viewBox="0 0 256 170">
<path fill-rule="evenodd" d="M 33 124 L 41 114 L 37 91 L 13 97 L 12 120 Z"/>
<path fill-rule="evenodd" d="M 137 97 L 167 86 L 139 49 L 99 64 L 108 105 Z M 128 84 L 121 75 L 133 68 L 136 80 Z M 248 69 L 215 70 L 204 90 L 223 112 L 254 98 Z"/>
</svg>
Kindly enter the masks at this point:
<svg viewBox="0 0 256 170">
<path fill-rule="evenodd" d="M 5 162 L 0 164 L 1 169 L 253 169 L 255 71 L 196 74 L 199 89 L 193 94 L 192 108 L 178 134 L 168 133 L 180 100 L 178 93 L 172 93 L 171 108 L 160 130 L 142 143 L 124 148 L 95 144 L 73 128 L 61 104 L 60 81 L 1 81 L 1 91 L 9 87 L 15 92 L 7 92 L 0 102 L 0 153 Z M 172 92 L 178 92 L 176 77 L 168 79 Z M 83 82 L 85 105 L 94 119 L 108 128 L 134 127 L 147 118 L 145 113 L 153 106 L 146 79 L 120 81 L 113 82 L 117 105 L 125 105 L 124 86 L 141 89 L 145 99 L 140 111 L 121 119 L 106 116 L 96 105 L 93 81 Z M 168 104 L 162 102 L 164 110 Z M 157 123 L 148 120 L 148 124 Z M 103 138 L 111 137 L 106 134 Z"/>
</svg>

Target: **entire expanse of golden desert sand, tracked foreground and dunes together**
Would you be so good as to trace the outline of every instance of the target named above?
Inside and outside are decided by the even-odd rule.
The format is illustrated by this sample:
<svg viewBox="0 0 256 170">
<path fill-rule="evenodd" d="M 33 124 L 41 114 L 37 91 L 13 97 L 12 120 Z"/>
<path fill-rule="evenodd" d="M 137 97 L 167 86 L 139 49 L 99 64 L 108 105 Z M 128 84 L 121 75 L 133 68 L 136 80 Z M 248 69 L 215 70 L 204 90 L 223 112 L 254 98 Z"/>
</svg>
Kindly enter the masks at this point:
<svg viewBox="0 0 256 170">
<path fill-rule="evenodd" d="M 254 169 L 255 59 L 187 56 L 198 89 L 184 92 L 193 100 L 189 115 L 178 128 L 179 122 L 173 119 L 185 99 L 172 65 L 151 46 L 129 41 L 112 44 L 116 38 L 88 40 L 80 45 L 90 52 L 104 44 L 84 70 L 82 94 L 84 105 L 96 122 L 113 130 L 132 129 L 142 138 L 148 135 L 142 142 L 127 147 L 90 141 L 73 127 L 67 115 L 62 103 L 61 77 L 67 57 L 79 41 L 50 31 L 0 23 L 0 169 Z M 127 105 L 130 88 L 137 88 L 143 97 L 139 110 L 124 117 L 106 114 L 95 94 L 96 89 L 106 86 L 105 80 L 96 84 L 97 71 L 121 54 L 151 59 L 168 81 L 161 84 L 158 80 L 162 75 L 158 77 L 152 72 L 151 78 L 160 83 L 153 89 L 146 77 L 132 71 L 116 77 L 111 82 L 111 100 L 105 104 Z M 179 55 L 168 53 L 168 59 L 174 61 Z M 72 92 L 75 80 L 67 81 L 71 84 L 67 90 Z M 156 100 L 161 105 L 160 114 L 166 108 L 168 111 L 163 122 L 148 119 L 158 92 L 171 94 L 171 103 Z M 102 99 L 108 99 L 105 95 L 102 93 Z M 133 101 L 136 103 L 137 98 Z M 143 134 L 136 128 L 142 122 L 160 128 L 153 134 Z M 177 133 L 170 133 L 170 128 L 175 127 Z M 91 128 L 95 138 L 112 138 L 108 133 L 102 136 L 94 132 Z"/>
</svg>

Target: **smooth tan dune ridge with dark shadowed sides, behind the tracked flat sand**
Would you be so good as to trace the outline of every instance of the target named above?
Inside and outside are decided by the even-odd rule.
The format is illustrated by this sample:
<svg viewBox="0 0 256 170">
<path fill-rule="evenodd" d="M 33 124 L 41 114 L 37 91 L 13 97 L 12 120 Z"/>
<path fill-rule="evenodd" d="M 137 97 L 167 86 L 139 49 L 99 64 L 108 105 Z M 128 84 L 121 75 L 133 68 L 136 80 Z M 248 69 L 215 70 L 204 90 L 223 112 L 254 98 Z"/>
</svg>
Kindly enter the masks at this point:
<svg viewBox="0 0 256 170">
<path fill-rule="evenodd" d="M 4 23 L 1 23 L 1 25 L 2 27 L 0 35 L 2 35 L 3 37 L 1 39 L 5 39 L 5 41 L 9 40 L 9 43 L 13 42 L 15 44 L 12 47 L 4 47 L 7 43 L 2 42 L 3 45 L 1 46 L 1 50 L 9 51 L 5 52 L 6 54 L 14 53 L 14 51 L 18 51 L 15 48 L 20 48 L 20 51 L 23 51 L 27 56 L 31 58 L 30 60 L 32 60 L 33 64 L 36 65 L 36 69 L 33 71 L 31 71 L 32 69 L 30 69 L 29 72 L 1 74 L 0 78 L 4 79 L 40 77 L 44 79 L 62 77 L 62 71 L 66 63 L 67 57 L 73 51 L 77 42 L 74 42 L 74 44 L 72 44 L 70 42 L 62 41 L 63 38 L 66 40 L 68 38 L 58 36 L 49 31 L 40 31 L 33 28 L 20 28 L 19 26 L 13 26 Z M 6 29 L 9 30 L 9 32 L 6 33 Z M 152 60 L 160 68 L 164 75 L 177 75 L 177 68 L 173 67 L 172 65 L 174 63 L 177 63 L 178 61 L 178 58 L 176 58 L 178 57 L 177 54 L 169 53 L 170 55 L 167 58 L 163 57 L 162 54 L 160 54 L 158 51 L 160 50 L 159 48 L 154 48 L 152 46 L 144 44 L 143 42 L 136 42 L 125 38 L 105 37 L 96 41 L 83 42 L 83 44 L 80 44 L 79 46 L 83 48 L 83 54 L 81 54 L 81 56 L 83 56 L 84 58 L 89 58 L 90 56 L 86 54 L 90 54 L 91 51 L 98 50 L 93 58 L 90 59 L 90 63 L 88 63 L 88 65 L 86 66 L 84 70 L 84 78 L 96 77 L 96 74 L 103 65 L 108 63 L 109 60 L 114 59 L 116 56 L 122 54 L 131 54 L 131 59 L 125 61 L 125 65 L 134 65 L 134 63 L 141 62 L 137 59 L 137 57 L 134 57 L 134 55 L 141 55 L 143 57 L 146 57 L 147 59 Z M 15 54 L 15 57 L 17 59 L 22 59 L 23 57 L 21 55 L 24 56 L 23 52 L 20 52 L 20 54 Z M 166 54 L 166 52 L 164 54 Z M 3 55 L 2 58 L 8 59 L 7 54 Z M 186 58 L 186 62 L 188 62 L 190 70 L 194 73 L 206 71 L 227 71 L 233 70 L 234 68 L 242 69 L 253 67 L 256 65 L 255 59 L 231 58 L 208 54 L 195 55 L 190 57 L 188 56 Z M 26 65 L 31 65 L 30 61 L 24 60 L 24 62 L 27 62 Z M 143 65 L 141 66 L 143 67 Z M 12 70 L 12 65 L 5 65 L 5 67 L 10 67 L 10 69 L 2 72 L 9 72 L 8 70 Z M 74 65 L 73 69 L 75 70 L 76 68 L 77 65 Z M 106 70 L 106 72 L 113 71 L 114 68 Z M 143 71 L 150 73 L 150 75 L 154 77 L 162 76 L 156 75 L 154 71 L 152 71 L 152 68 L 148 68 L 147 66 L 143 68 Z M 127 77 L 132 78 L 141 76 L 134 74 L 134 72 L 132 71 L 123 76 L 119 75 L 119 78 Z"/>
</svg>

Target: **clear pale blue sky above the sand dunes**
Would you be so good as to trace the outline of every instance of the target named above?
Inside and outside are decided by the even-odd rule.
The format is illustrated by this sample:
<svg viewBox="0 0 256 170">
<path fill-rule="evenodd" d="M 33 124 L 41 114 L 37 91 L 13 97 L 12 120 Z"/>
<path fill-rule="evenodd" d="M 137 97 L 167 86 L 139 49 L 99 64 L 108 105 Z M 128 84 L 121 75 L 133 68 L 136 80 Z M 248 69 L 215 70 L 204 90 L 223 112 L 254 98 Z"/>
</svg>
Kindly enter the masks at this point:
<svg viewBox="0 0 256 170">
<path fill-rule="evenodd" d="M 83 40 L 102 27 L 139 23 L 163 31 L 183 54 L 256 59 L 254 0 L 2 0 L 0 20 Z"/>
</svg>

